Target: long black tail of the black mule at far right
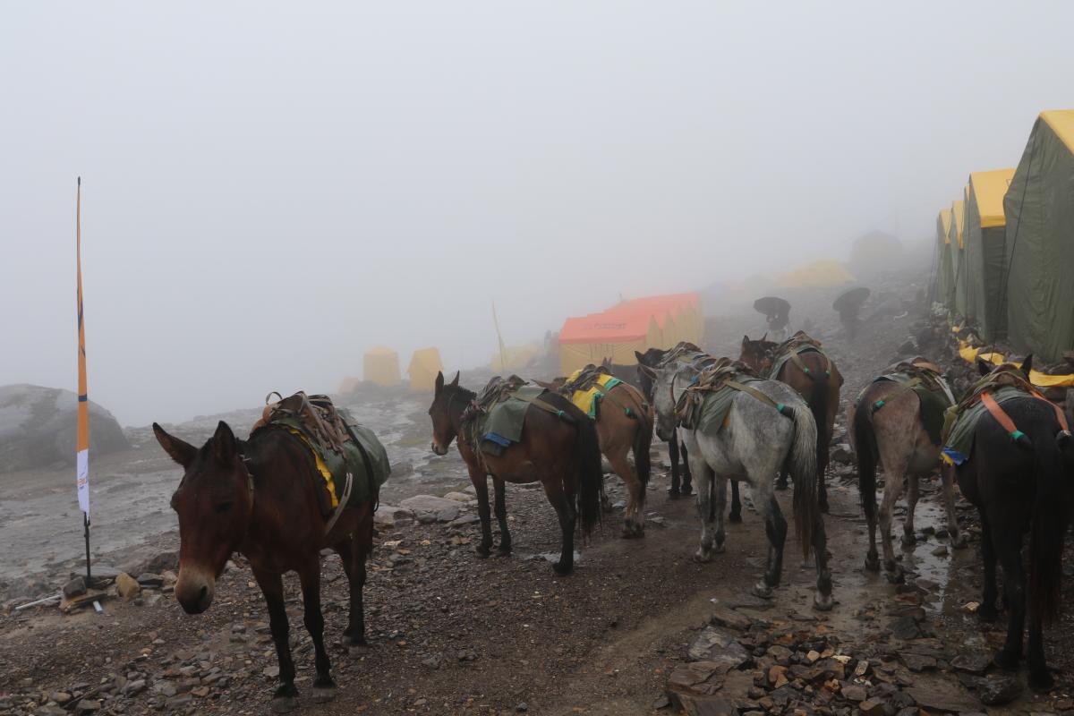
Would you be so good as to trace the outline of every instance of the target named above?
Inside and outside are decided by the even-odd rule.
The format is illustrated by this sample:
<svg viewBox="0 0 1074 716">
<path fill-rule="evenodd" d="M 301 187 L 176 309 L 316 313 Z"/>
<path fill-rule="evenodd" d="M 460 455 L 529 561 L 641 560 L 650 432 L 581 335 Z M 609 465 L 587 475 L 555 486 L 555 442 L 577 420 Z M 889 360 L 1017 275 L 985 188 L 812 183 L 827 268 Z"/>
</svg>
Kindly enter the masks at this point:
<svg viewBox="0 0 1074 716">
<path fill-rule="evenodd" d="M 1036 495 L 1029 542 L 1029 599 L 1031 616 L 1053 622 L 1059 614 L 1066 534 L 1063 455 L 1051 435 L 1034 436 L 1031 450 Z"/>
</svg>

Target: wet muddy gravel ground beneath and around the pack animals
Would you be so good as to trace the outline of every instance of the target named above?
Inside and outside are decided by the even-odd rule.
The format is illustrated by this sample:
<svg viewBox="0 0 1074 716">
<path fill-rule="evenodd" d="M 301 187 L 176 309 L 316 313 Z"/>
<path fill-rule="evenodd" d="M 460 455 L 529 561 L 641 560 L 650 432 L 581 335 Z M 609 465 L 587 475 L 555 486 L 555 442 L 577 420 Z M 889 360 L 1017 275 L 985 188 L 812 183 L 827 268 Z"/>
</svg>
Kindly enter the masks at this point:
<svg viewBox="0 0 1074 716">
<path fill-rule="evenodd" d="M 914 312 L 914 288 L 892 288 L 890 310 L 853 345 L 830 321 L 815 322 L 814 333 L 825 339 L 847 376 L 844 407 L 871 376 L 899 357 L 898 348 L 920 313 L 920 306 Z M 829 298 L 818 296 L 816 303 Z M 802 312 L 810 310 L 804 299 L 795 305 Z M 722 330 L 710 331 L 710 347 L 717 353 L 737 352 L 742 333 L 760 333 L 760 323 L 749 315 L 727 319 Z M 378 425 L 398 466 L 384 493 L 389 503 L 466 484 L 454 452 L 430 459 L 426 406 L 417 398 L 407 400 L 380 396 L 355 406 L 364 411 L 360 419 Z M 248 417 L 238 413 L 234 419 L 242 424 Z M 215 420 L 205 420 L 177 432 L 197 436 L 214 425 Z M 837 432 L 837 443 L 844 441 L 844 433 Z M 113 474 L 98 482 L 95 494 L 102 512 L 108 505 L 118 506 L 114 513 L 120 517 L 99 518 L 107 524 L 95 532 L 100 536 L 98 549 L 112 564 L 139 551 L 177 547 L 166 507 L 177 472 L 148 442 L 148 434 L 133 437 L 141 447 L 116 457 Z M 67 501 L 69 485 L 53 484 L 47 471 L 16 477 L 2 477 L 0 544 L 13 545 L 5 552 L 4 578 L 9 588 L 38 579 L 42 588 L 55 589 L 57 575 L 78 568 L 76 510 L 63 522 L 55 508 L 60 491 Z M 738 637 L 751 651 L 750 660 L 731 672 L 741 699 L 723 711 L 694 713 L 901 713 L 895 704 L 902 702 L 894 698 L 851 700 L 846 688 L 856 685 L 870 696 L 890 696 L 891 689 L 916 693 L 917 704 L 909 702 L 913 713 L 940 710 L 927 702 L 944 688 L 956 689 L 961 699 L 952 711 L 984 711 L 977 691 L 960 685 L 960 678 L 969 680 L 952 666 L 960 655 L 996 648 L 1002 637 L 999 626 L 978 625 L 967 608 L 979 600 L 972 511 L 964 503 L 960 509 L 970 549 L 945 550 L 945 539 L 937 535 L 942 523 L 938 494 L 926 489 L 918 508 L 920 539 L 903 557 L 911 572 L 909 585 L 890 585 L 861 568 L 865 522 L 852 477 L 850 466 L 837 465 L 830 480 L 827 532 L 839 603 L 826 614 L 812 610 L 814 571 L 801 565 L 800 546 L 792 536 L 784 585 L 774 599 L 761 603 L 748 596 L 766 549 L 763 527 L 750 510 L 743 524 L 729 525 L 725 554 L 710 564 L 695 562 L 698 527 L 693 501 L 668 499 L 663 468 L 655 470 L 648 493 L 645 538 L 620 539 L 620 515 L 607 515 L 603 528 L 581 546 L 569 578 L 556 578 L 541 556 L 557 550 L 558 529 L 539 489 L 508 487 L 516 545 L 509 558 L 477 558 L 473 524 L 381 529 L 366 586 L 366 652 L 352 655 L 338 644 L 346 620 L 346 581 L 334 556 L 324 562 L 326 639 L 339 684 L 332 703 L 313 703 L 313 653 L 302 627 L 297 580 L 286 580 L 301 707 L 324 714 L 672 713 L 679 702 L 669 703 L 666 697 L 669 678 L 681 673 L 691 643 L 714 610 L 734 608 L 752 620 L 751 631 Z M 609 478 L 608 484 L 613 501 L 621 499 L 616 480 Z M 780 499 L 789 512 L 789 494 Z M 471 506 L 463 506 L 464 516 L 473 513 Z M 102 542 L 107 547 L 100 546 Z M 916 627 L 902 633 L 905 619 L 896 622 L 909 614 Z M 204 615 L 185 615 L 166 588 L 147 589 L 135 602 L 106 600 L 103 614 L 86 610 L 68 616 L 55 607 L 3 613 L 0 634 L 4 713 L 262 714 L 267 713 L 274 687 L 276 657 L 266 614 L 241 558 L 221 578 L 216 600 Z M 1056 689 L 1044 695 L 1019 689 L 999 713 L 1071 707 L 1066 695 L 1074 689 L 1074 655 L 1065 644 L 1072 634 L 1069 616 L 1046 634 L 1050 662 L 1059 670 Z M 764 683 L 778 666 L 773 659 L 795 669 L 806 658 L 799 647 L 804 655 L 803 645 L 812 644 L 829 657 L 845 657 L 847 667 L 860 667 L 863 675 L 855 684 L 853 675 L 845 674 L 838 696 L 817 685 L 799 689 L 789 701 L 773 700 L 780 689 Z M 781 645 L 789 645 L 787 654 L 780 652 L 785 648 Z M 730 693 L 732 686 L 729 681 L 719 692 Z M 832 688 L 840 690 L 838 685 Z"/>
</svg>

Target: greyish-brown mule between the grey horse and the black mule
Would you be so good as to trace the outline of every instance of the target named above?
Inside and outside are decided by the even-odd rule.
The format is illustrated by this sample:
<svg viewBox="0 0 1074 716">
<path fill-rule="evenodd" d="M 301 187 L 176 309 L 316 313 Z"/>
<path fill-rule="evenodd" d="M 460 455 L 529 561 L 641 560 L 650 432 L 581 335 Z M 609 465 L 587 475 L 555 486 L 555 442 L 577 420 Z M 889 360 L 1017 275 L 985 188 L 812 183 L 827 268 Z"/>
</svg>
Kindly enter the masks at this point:
<svg viewBox="0 0 1074 716">
<path fill-rule="evenodd" d="M 940 378 L 939 380 L 943 380 Z M 883 408 L 873 410 L 873 406 Z M 884 549 L 884 570 L 888 581 L 902 582 L 903 570 L 895 558 L 891 544 L 891 511 L 906 486 L 906 517 L 902 524 L 902 545 L 912 550 L 914 537 L 914 510 L 917 508 L 918 481 L 940 468 L 943 486 L 947 531 L 955 549 L 966 546 L 966 536 L 959 532 L 955 511 L 953 471 L 942 463 L 943 447 L 934 444 L 921 418 L 921 404 L 917 394 L 905 391 L 891 380 L 870 383 L 850 407 L 846 422 L 851 425 L 851 445 L 858 462 L 858 492 L 861 509 L 869 524 L 869 550 L 866 569 L 880 571 L 876 553 L 876 468 L 883 466 L 884 501 L 880 508 L 880 534 Z"/>
</svg>

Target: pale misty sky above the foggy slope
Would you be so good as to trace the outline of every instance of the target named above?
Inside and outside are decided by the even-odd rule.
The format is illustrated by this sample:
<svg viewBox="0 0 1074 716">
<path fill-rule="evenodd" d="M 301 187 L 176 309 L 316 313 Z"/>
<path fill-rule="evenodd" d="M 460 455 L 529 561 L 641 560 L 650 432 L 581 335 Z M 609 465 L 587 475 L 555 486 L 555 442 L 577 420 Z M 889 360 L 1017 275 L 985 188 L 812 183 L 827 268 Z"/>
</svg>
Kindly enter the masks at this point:
<svg viewBox="0 0 1074 716">
<path fill-rule="evenodd" d="M 124 424 L 451 367 L 622 294 L 933 234 L 1074 105 L 1074 4 L 5 3 L 0 384 Z M 789 3 L 786 3 L 789 4 Z"/>
</svg>

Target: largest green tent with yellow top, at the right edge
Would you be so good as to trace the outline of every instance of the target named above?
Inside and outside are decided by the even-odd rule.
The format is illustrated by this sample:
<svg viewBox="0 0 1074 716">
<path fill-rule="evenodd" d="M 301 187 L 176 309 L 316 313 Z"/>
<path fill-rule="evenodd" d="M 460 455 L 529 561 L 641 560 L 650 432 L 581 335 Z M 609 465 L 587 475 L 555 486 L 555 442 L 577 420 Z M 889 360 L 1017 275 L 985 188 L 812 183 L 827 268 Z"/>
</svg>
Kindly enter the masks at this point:
<svg viewBox="0 0 1074 716">
<path fill-rule="evenodd" d="M 1074 348 L 1074 109 L 1042 112 L 1003 200 L 1012 344 L 1046 361 Z"/>
</svg>

